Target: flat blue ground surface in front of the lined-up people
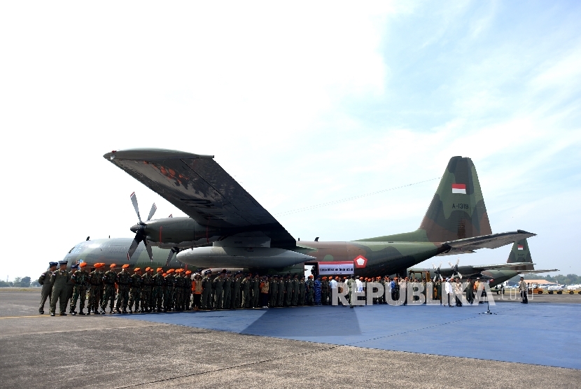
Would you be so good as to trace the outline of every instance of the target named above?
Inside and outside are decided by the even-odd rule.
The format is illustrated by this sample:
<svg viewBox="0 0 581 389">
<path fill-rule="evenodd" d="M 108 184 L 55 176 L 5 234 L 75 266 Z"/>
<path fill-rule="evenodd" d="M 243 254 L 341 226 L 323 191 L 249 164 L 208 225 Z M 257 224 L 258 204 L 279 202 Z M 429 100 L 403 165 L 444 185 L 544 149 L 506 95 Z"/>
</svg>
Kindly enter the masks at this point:
<svg viewBox="0 0 581 389">
<path fill-rule="evenodd" d="M 581 305 L 306 306 L 116 317 L 381 350 L 581 369 Z"/>
</svg>

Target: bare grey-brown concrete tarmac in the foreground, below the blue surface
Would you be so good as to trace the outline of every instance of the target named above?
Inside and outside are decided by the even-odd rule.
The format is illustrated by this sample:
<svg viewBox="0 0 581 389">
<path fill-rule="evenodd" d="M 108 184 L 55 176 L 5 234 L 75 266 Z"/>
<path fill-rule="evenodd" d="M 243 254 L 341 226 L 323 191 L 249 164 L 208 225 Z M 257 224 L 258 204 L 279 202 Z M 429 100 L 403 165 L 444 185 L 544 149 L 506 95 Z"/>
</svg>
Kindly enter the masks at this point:
<svg viewBox="0 0 581 389">
<path fill-rule="evenodd" d="M 39 316 L 39 299 L 39 292 L 0 290 L 3 387 L 578 388 L 581 382 L 579 369 L 541 366 L 542 353 L 541 365 L 529 365 L 134 320 L 148 316 L 141 314 L 131 316 L 132 320 L 129 315 L 109 314 Z M 315 313 L 316 309 L 276 311 L 295 315 L 301 310 Z M 195 317 L 197 313 L 167 316 Z M 221 314 L 214 316 L 217 323 L 224 320 L 218 317 Z M 500 352 L 513 352 L 498 346 Z M 458 348 L 465 347 L 472 345 L 458 344 Z M 522 347 L 536 350 L 535 339 Z"/>
</svg>

